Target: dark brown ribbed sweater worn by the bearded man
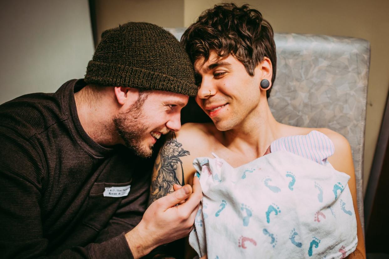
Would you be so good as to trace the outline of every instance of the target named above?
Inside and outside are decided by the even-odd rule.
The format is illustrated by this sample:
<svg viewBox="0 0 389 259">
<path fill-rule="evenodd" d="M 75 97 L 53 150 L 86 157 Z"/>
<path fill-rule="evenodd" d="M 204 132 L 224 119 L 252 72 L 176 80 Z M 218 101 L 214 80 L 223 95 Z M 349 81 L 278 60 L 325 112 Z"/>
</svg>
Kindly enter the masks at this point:
<svg viewBox="0 0 389 259">
<path fill-rule="evenodd" d="M 150 176 L 127 148 L 102 147 L 82 129 L 74 92 L 84 85 L 0 106 L 2 258 L 132 258 L 124 233 L 142 219 Z M 128 196 L 103 196 L 128 185 Z"/>
</svg>

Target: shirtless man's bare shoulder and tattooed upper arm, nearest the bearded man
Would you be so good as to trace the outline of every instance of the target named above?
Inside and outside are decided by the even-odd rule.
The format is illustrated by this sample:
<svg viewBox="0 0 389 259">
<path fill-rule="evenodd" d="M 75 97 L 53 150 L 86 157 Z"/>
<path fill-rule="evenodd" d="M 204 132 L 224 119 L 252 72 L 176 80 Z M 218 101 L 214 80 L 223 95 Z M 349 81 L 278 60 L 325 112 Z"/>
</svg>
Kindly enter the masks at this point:
<svg viewBox="0 0 389 259">
<path fill-rule="evenodd" d="M 186 123 L 166 137 L 154 162 L 149 204 L 173 192 L 173 185 L 191 184 L 193 160 L 204 156 L 209 146 L 210 125 Z"/>
</svg>

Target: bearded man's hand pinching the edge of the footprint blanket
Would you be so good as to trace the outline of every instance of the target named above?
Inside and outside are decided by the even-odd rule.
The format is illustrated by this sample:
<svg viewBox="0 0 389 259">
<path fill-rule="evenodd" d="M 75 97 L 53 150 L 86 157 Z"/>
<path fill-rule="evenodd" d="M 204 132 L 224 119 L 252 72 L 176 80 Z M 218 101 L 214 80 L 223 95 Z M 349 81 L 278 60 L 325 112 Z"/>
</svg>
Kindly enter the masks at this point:
<svg viewBox="0 0 389 259">
<path fill-rule="evenodd" d="M 126 234 L 134 258 L 145 256 L 159 245 L 187 236 L 193 228 L 201 199 L 200 182 L 194 177 L 193 187 L 186 184 L 153 202 L 139 224 Z"/>
</svg>

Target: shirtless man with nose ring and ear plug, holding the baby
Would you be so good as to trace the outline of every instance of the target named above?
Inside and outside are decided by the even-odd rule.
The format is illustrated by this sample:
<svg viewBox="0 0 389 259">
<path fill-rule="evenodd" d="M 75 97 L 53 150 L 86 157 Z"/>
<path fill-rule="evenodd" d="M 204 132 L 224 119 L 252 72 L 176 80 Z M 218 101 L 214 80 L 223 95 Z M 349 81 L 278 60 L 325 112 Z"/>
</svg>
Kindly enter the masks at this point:
<svg viewBox="0 0 389 259">
<path fill-rule="evenodd" d="M 235 168 L 263 156 L 276 139 L 317 130 L 335 146 L 328 161 L 350 176 L 359 240 L 350 256 L 364 258 L 350 145 L 332 130 L 293 127 L 275 120 L 267 101 L 275 80 L 275 43 L 272 27 L 260 12 L 247 5 L 216 5 L 189 26 L 181 42 L 195 67 L 196 103 L 213 123 L 186 123 L 166 140 L 156 159 L 150 203 L 190 183 L 196 157 L 213 157 L 214 152 Z"/>
</svg>

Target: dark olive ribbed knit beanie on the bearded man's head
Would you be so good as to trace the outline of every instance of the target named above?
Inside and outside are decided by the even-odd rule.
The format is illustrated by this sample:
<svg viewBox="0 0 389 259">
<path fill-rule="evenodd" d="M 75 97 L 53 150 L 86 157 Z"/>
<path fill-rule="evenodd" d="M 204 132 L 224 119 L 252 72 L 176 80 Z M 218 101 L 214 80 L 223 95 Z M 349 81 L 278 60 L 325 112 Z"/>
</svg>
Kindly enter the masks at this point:
<svg viewBox="0 0 389 259">
<path fill-rule="evenodd" d="M 126 23 L 102 33 L 85 82 L 196 96 L 193 65 L 180 42 L 151 23 Z"/>
</svg>

